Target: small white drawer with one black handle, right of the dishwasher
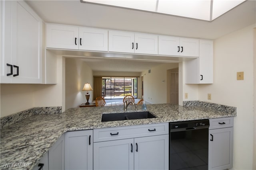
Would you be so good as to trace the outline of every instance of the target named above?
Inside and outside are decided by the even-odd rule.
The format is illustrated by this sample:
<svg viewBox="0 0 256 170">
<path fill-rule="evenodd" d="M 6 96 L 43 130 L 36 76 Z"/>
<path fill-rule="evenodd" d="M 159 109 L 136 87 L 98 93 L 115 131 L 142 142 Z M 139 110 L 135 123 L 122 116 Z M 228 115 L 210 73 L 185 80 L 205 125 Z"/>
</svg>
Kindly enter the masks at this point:
<svg viewBox="0 0 256 170">
<path fill-rule="evenodd" d="M 233 127 L 233 125 L 234 125 L 233 120 L 234 120 L 234 117 L 223 117 L 223 118 L 209 119 L 209 121 L 210 121 L 209 129 Z"/>
</svg>

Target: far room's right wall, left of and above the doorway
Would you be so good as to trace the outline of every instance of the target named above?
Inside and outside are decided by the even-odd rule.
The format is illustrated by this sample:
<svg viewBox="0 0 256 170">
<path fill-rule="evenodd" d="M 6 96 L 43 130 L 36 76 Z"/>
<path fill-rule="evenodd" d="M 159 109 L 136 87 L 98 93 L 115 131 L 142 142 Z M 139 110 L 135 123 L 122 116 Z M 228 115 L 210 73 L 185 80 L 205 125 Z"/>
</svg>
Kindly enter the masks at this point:
<svg viewBox="0 0 256 170">
<path fill-rule="evenodd" d="M 148 73 L 148 70 L 142 72 L 146 102 L 152 104 L 167 102 L 167 70 L 178 66 L 178 63 L 164 63 L 151 68 L 151 73 Z"/>
</svg>

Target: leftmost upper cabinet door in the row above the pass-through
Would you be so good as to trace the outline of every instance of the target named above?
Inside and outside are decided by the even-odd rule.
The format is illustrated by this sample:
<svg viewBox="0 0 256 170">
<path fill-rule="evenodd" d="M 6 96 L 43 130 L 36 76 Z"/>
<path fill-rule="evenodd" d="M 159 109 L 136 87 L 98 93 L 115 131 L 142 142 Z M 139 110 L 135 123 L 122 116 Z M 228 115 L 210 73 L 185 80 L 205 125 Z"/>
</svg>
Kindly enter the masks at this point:
<svg viewBox="0 0 256 170">
<path fill-rule="evenodd" d="M 58 49 L 78 49 L 78 27 L 46 24 L 46 47 Z"/>
</svg>

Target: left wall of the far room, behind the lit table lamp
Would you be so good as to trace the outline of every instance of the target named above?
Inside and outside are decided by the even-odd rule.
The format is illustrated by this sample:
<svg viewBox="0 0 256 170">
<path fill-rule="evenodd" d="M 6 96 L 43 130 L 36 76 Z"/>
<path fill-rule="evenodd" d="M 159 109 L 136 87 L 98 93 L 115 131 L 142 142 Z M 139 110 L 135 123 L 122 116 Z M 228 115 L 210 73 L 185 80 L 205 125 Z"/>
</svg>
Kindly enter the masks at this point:
<svg viewBox="0 0 256 170">
<path fill-rule="evenodd" d="M 80 104 L 86 103 L 86 91 L 82 91 L 84 83 L 88 82 L 93 88 L 93 74 L 92 69 L 81 59 L 66 58 L 66 109 L 71 107 L 79 107 Z M 92 102 L 93 92 L 89 91 Z"/>
</svg>

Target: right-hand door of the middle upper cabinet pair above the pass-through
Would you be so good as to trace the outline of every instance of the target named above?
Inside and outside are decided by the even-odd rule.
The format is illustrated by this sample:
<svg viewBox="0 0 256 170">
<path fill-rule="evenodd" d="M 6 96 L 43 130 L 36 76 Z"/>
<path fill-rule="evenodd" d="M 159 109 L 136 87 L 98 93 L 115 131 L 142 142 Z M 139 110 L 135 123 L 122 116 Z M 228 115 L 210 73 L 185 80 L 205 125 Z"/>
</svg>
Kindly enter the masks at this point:
<svg viewBox="0 0 256 170">
<path fill-rule="evenodd" d="M 135 33 L 135 53 L 158 54 L 158 35 Z"/>
</svg>

